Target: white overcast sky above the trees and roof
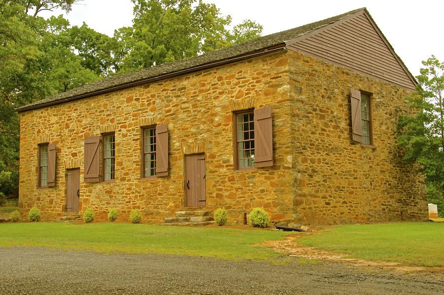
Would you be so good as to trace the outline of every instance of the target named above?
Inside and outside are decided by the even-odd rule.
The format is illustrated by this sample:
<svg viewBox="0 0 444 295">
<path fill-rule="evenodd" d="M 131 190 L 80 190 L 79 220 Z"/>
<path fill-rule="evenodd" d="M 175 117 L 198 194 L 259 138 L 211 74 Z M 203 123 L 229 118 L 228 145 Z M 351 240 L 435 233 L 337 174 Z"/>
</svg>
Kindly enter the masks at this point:
<svg viewBox="0 0 444 295">
<path fill-rule="evenodd" d="M 421 61 L 434 54 L 444 62 L 442 0 L 204 0 L 213 2 L 233 24 L 251 19 L 263 26 L 262 35 L 281 32 L 344 12 L 367 7 L 379 29 L 413 75 L 419 74 Z M 90 28 L 113 35 L 115 29 L 131 26 L 130 0 L 84 0 L 65 14 L 71 25 L 84 21 Z M 49 17 L 60 11 L 39 14 Z"/>
</svg>

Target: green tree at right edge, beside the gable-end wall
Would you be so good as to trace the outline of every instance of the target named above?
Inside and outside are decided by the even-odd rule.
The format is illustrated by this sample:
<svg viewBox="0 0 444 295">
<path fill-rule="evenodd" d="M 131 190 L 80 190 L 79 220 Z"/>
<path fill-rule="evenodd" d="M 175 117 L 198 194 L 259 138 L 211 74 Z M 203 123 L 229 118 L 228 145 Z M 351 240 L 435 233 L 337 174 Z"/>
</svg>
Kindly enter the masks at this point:
<svg viewBox="0 0 444 295">
<path fill-rule="evenodd" d="M 417 162 L 426 176 L 427 197 L 444 217 L 444 63 L 432 55 L 416 76 L 420 86 L 408 97 L 415 116 L 401 116 L 398 145 L 405 147 L 404 159 Z"/>
</svg>

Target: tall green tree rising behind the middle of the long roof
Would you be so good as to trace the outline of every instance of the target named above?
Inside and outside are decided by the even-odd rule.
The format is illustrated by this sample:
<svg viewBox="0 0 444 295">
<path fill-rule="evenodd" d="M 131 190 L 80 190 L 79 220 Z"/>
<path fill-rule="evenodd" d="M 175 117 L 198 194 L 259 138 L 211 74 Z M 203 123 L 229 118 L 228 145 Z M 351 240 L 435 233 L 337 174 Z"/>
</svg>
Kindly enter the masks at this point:
<svg viewBox="0 0 444 295">
<path fill-rule="evenodd" d="M 262 32 L 253 21 L 245 21 L 230 32 L 231 16 L 221 15 L 215 4 L 202 0 L 132 1 L 133 27 L 118 34 L 126 46 L 119 52 L 124 53 L 116 66 L 120 72 L 193 57 L 257 38 Z"/>
</svg>

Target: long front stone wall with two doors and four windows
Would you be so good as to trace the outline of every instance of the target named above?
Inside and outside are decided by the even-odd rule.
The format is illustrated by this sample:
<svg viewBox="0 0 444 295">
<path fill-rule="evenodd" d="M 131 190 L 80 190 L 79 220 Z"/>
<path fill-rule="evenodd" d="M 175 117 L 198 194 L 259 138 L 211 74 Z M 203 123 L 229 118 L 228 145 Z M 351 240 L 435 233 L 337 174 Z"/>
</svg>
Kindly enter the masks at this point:
<svg viewBox="0 0 444 295">
<path fill-rule="evenodd" d="M 36 205 L 43 220 L 64 214 L 65 169 L 80 167 L 80 212 L 106 220 L 110 207 L 127 220 L 141 209 L 145 222 L 185 210 L 184 154 L 206 154 L 206 209 L 226 208 L 230 221 L 264 207 L 273 220 L 293 215 L 288 58 L 284 51 L 176 78 L 21 114 L 20 197 L 23 215 Z M 286 88 L 284 88 L 286 90 Z M 232 111 L 272 106 L 273 167 L 234 171 Z M 168 124 L 169 176 L 142 180 L 141 124 Z M 85 136 L 115 131 L 113 183 L 83 182 Z M 57 143 L 56 184 L 37 188 L 37 144 Z"/>
</svg>

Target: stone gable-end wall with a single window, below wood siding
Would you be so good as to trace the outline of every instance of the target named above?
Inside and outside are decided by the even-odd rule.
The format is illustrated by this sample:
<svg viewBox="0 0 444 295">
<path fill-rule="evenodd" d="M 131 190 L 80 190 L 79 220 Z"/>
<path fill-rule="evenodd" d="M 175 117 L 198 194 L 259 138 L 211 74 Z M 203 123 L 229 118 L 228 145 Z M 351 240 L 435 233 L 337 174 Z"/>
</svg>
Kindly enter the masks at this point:
<svg viewBox="0 0 444 295">
<path fill-rule="evenodd" d="M 397 121 L 409 91 L 289 52 L 295 220 L 333 224 L 427 219 L 418 167 L 402 162 Z M 373 147 L 351 139 L 350 87 L 371 93 Z"/>
</svg>

